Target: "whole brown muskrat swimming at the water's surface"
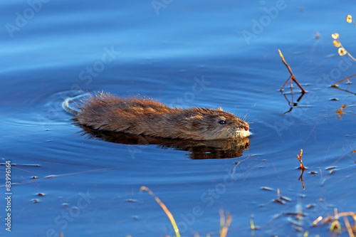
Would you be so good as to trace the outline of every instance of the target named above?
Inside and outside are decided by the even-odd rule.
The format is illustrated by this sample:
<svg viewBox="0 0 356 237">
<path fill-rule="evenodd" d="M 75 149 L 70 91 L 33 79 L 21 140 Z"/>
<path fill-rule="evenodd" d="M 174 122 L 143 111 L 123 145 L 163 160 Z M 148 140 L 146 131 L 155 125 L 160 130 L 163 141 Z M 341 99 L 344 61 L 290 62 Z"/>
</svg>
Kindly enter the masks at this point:
<svg viewBox="0 0 356 237">
<path fill-rule="evenodd" d="M 171 139 L 242 139 L 250 135 L 249 126 L 221 108 L 169 107 L 149 98 L 119 98 L 110 93 L 90 95 L 76 108 L 63 102 L 73 120 L 95 130 Z"/>
</svg>

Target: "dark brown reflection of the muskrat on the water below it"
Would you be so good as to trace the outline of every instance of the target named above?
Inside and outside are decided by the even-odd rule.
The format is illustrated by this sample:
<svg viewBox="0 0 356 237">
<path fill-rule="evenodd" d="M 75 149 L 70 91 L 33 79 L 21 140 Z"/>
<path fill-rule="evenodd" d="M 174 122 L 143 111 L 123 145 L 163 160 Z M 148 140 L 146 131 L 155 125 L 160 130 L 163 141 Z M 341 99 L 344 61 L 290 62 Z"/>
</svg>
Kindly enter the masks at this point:
<svg viewBox="0 0 356 237">
<path fill-rule="evenodd" d="M 90 138 L 103 139 L 107 142 L 119 144 L 156 144 L 161 149 L 178 149 L 189 152 L 190 159 L 226 159 L 241 157 L 244 149 L 248 149 L 250 142 L 247 137 L 230 140 L 187 140 L 164 139 L 159 137 L 147 137 L 142 135 L 125 134 L 122 132 L 110 132 L 93 130 L 90 127 L 83 128 L 83 135 Z"/>
</svg>

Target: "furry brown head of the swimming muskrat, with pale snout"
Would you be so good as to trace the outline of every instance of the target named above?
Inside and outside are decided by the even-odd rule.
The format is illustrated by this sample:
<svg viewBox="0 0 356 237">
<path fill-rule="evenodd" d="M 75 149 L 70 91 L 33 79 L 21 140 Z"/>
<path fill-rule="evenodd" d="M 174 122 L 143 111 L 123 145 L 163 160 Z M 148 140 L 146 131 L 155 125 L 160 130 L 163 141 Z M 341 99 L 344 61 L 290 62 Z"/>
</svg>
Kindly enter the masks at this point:
<svg viewBox="0 0 356 237">
<path fill-rule="evenodd" d="M 201 109 L 188 120 L 189 132 L 201 139 L 241 139 L 250 135 L 247 122 L 221 109 Z"/>
</svg>

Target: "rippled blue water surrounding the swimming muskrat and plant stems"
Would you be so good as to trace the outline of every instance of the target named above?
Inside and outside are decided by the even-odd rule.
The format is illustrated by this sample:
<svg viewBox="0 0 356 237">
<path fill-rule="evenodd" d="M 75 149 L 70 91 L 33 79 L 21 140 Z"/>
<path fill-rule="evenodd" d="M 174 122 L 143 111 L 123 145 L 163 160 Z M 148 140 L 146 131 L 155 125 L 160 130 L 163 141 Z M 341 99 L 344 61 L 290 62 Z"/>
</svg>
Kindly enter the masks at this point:
<svg viewBox="0 0 356 237">
<path fill-rule="evenodd" d="M 356 28 L 345 22 L 353 1 L 154 2 L 161 5 L 0 4 L 0 159 L 17 164 L 11 233 L 3 224 L 0 235 L 173 236 L 155 199 L 140 194 L 142 185 L 172 212 L 182 236 L 218 236 L 219 209 L 233 217 L 228 236 L 329 235 L 327 226 L 310 227 L 315 218 L 356 209 L 356 79 L 340 83 L 347 91 L 329 87 L 355 74 L 356 62 L 338 56 L 331 38 L 340 33 L 347 51 L 356 52 Z M 285 115 L 290 106 L 278 90 L 289 75 L 278 48 L 308 91 Z M 246 115 L 253 135 L 242 156 L 231 159 L 108 142 L 83 135 L 62 109 L 78 90 L 222 107 Z M 291 100 L 289 91 L 287 85 Z M 293 102 L 299 91 L 294 83 Z M 305 189 L 296 169 L 300 149 Z M 291 201 L 274 202 L 277 189 Z M 298 221 L 301 232 L 283 214 L 298 209 L 306 215 Z"/>
</svg>

